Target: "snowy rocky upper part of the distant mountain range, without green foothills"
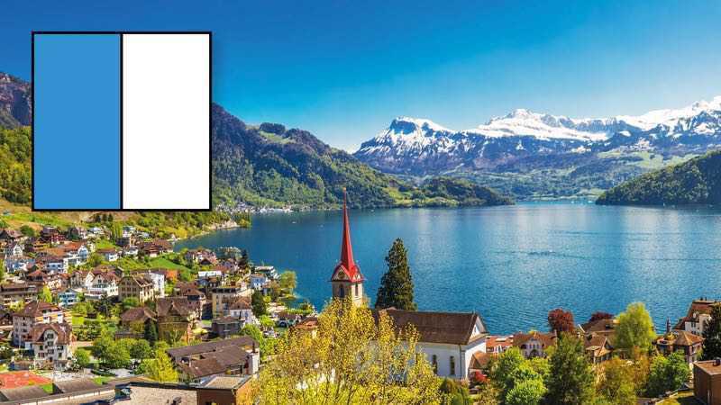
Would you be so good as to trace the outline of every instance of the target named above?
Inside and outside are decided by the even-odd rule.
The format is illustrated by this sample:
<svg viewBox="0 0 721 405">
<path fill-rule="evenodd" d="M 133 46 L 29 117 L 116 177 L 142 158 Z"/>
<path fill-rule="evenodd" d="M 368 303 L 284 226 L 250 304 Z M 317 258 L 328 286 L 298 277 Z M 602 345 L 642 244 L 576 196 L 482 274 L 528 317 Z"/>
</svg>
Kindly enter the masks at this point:
<svg viewBox="0 0 721 405">
<path fill-rule="evenodd" d="M 721 96 L 678 110 L 639 116 L 574 119 L 527 110 L 496 117 L 470 130 L 399 117 L 355 156 L 391 173 L 506 170 L 518 160 L 558 154 L 647 150 L 668 156 L 703 153 L 721 145 Z"/>
</svg>

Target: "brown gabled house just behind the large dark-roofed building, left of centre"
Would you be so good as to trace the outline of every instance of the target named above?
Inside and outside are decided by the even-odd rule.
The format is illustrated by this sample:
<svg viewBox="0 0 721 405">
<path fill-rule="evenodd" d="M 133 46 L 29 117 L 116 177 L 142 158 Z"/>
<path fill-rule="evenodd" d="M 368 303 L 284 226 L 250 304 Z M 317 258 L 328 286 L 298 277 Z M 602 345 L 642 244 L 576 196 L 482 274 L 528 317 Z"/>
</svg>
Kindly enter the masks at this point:
<svg viewBox="0 0 721 405">
<path fill-rule="evenodd" d="M 159 298 L 156 302 L 158 310 L 158 337 L 174 343 L 190 342 L 193 338 L 195 311 L 190 308 L 187 297 Z"/>
</svg>

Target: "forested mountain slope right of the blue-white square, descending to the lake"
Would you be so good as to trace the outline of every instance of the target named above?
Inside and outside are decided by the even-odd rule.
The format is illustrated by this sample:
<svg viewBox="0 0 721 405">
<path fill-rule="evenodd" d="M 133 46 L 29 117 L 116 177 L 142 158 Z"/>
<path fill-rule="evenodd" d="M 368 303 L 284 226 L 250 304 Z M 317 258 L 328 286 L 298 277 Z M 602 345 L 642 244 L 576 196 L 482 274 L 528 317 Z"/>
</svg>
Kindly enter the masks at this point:
<svg viewBox="0 0 721 405">
<path fill-rule="evenodd" d="M 461 179 L 432 179 L 415 186 L 370 168 L 331 148 L 306 130 L 278 123 L 252 126 L 214 104 L 214 200 L 218 204 L 322 208 L 499 205 L 512 203 L 487 187 Z"/>
</svg>

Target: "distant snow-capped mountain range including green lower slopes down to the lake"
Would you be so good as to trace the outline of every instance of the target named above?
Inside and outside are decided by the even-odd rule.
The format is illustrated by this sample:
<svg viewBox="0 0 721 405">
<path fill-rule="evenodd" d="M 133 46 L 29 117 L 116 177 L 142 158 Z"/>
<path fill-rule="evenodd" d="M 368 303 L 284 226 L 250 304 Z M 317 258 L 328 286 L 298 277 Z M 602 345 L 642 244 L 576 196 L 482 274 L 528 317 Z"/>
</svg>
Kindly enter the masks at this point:
<svg viewBox="0 0 721 405">
<path fill-rule="evenodd" d="M 598 193 L 719 146 L 721 96 L 601 119 L 516 110 L 470 130 L 399 117 L 353 155 L 388 173 L 464 176 L 534 198 Z"/>
</svg>

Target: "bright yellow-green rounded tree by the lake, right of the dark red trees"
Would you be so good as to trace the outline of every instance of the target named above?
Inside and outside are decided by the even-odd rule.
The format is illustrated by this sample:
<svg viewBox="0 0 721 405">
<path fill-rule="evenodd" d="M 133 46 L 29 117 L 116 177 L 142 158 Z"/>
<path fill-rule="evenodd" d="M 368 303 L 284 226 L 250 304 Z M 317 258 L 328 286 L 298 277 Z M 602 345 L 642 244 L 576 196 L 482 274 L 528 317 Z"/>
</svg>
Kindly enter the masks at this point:
<svg viewBox="0 0 721 405">
<path fill-rule="evenodd" d="M 642 351 L 647 351 L 651 348 L 654 338 L 656 338 L 656 334 L 653 329 L 653 320 L 643 303 L 628 304 L 625 312 L 618 315 L 614 346 L 625 350 L 638 347 Z"/>
</svg>

